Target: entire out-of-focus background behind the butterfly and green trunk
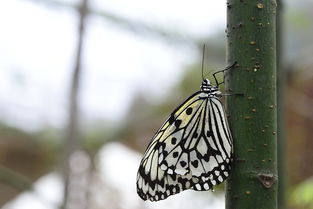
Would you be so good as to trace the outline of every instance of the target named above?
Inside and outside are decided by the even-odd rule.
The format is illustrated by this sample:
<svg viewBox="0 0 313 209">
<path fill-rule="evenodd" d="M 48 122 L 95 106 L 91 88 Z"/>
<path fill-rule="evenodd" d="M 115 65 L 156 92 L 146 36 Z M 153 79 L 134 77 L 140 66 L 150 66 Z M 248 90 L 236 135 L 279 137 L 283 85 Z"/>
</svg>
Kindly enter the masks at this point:
<svg viewBox="0 0 313 209">
<path fill-rule="evenodd" d="M 313 1 L 282 3 L 286 201 L 312 209 Z M 3 0 L 0 26 L 1 208 L 224 207 L 223 185 L 149 203 L 135 183 L 203 43 L 226 65 L 226 1 Z"/>
</svg>

